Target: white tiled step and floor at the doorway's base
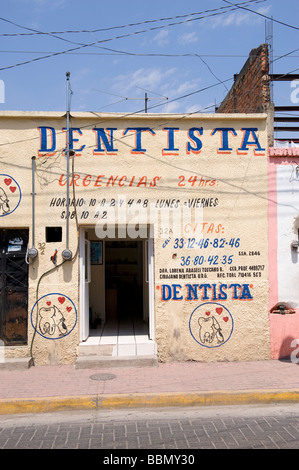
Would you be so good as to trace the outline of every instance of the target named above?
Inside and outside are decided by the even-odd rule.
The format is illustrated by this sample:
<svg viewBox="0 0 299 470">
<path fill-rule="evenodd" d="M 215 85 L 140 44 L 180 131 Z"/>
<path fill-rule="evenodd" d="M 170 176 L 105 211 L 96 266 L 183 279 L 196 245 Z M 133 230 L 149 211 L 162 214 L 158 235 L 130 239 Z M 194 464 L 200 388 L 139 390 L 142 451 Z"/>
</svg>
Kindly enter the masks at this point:
<svg viewBox="0 0 299 470">
<path fill-rule="evenodd" d="M 109 321 L 89 330 L 89 338 L 81 350 L 91 347 L 107 356 L 151 356 L 157 353 L 156 343 L 149 339 L 148 324 L 142 320 Z"/>
</svg>

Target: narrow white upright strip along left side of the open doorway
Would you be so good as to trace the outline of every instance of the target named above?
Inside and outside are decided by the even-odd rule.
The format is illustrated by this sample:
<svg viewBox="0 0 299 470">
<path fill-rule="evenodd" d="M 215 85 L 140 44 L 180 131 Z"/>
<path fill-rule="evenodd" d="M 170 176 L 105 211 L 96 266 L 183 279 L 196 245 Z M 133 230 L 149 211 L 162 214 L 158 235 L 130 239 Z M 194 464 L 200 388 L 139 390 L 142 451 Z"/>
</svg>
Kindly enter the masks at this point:
<svg viewBox="0 0 299 470">
<path fill-rule="evenodd" d="M 85 230 L 80 230 L 80 341 L 86 341 L 89 336 L 89 283 L 90 270 L 90 241 L 86 238 Z"/>
</svg>

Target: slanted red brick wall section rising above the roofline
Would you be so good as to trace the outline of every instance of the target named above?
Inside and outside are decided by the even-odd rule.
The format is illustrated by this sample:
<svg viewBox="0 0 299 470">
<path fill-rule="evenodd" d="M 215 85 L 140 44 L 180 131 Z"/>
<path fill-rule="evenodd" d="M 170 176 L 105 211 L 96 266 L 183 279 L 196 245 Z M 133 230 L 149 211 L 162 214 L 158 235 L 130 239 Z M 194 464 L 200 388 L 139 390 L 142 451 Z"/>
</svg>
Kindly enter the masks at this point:
<svg viewBox="0 0 299 470">
<path fill-rule="evenodd" d="M 271 102 L 268 44 L 252 49 L 217 113 L 260 113 Z"/>
</svg>

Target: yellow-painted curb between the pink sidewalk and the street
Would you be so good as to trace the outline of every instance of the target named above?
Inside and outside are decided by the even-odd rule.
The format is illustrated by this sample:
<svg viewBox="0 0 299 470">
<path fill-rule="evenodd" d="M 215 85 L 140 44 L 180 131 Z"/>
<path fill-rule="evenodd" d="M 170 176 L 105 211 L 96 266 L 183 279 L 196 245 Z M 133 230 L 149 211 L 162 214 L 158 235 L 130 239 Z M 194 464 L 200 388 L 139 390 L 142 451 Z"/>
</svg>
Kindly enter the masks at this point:
<svg viewBox="0 0 299 470">
<path fill-rule="evenodd" d="M 0 399 L 0 415 L 141 407 L 220 406 L 299 402 L 299 390 L 136 393 Z"/>
</svg>

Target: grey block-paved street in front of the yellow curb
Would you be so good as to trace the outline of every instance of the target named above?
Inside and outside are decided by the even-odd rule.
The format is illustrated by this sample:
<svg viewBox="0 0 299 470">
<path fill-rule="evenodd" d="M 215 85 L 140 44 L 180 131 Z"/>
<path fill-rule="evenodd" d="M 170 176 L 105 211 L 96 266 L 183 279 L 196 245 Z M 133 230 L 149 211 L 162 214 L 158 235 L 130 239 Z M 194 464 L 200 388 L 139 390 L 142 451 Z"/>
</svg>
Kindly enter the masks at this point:
<svg viewBox="0 0 299 470">
<path fill-rule="evenodd" d="M 101 452 L 92 453 L 88 459 L 90 462 L 95 457 L 97 464 L 107 460 L 111 463 L 111 459 L 120 464 L 120 459 L 125 458 L 130 467 L 135 463 L 144 467 L 167 462 L 198 466 L 203 463 L 202 449 L 298 448 L 298 403 L 0 417 L 0 449 L 96 449 Z M 57 459 L 51 453 L 47 461 L 51 456 Z"/>
</svg>

